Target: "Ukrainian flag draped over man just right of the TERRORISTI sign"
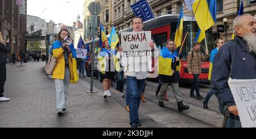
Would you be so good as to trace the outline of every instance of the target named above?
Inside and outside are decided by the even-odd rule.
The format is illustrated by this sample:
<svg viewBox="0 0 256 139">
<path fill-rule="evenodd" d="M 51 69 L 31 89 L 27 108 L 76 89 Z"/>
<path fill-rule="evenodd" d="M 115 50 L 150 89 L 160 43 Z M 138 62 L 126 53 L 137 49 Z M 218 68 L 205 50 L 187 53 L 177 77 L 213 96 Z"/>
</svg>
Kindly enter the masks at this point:
<svg viewBox="0 0 256 139">
<path fill-rule="evenodd" d="M 168 75 L 168 76 L 172 75 L 172 67 L 171 67 L 172 59 L 173 59 L 172 54 L 166 47 L 164 47 L 160 51 L 160 56 L 158 59 L 158 74 Z"/>
</svg>

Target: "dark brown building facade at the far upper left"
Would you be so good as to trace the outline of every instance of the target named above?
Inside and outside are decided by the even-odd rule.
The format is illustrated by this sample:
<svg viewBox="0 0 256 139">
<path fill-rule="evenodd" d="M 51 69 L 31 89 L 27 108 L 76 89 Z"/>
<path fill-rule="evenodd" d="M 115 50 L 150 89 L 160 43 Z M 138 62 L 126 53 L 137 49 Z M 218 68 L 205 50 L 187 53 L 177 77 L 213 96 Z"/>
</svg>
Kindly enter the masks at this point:
<svg viewBox="0 0 256 139">
<path fill-rule="evenodd" d="M 0 0 L 0 31 L 3 37 L 9 37 L 11 53 L 19 54 L 20 50 L 26 51 L 24 44 L 27 26 L 27 0 L 22 5 L 16 5 L 15 0 Z M 8 54 L 10 60 L 11 53 Z"/>
</svg>

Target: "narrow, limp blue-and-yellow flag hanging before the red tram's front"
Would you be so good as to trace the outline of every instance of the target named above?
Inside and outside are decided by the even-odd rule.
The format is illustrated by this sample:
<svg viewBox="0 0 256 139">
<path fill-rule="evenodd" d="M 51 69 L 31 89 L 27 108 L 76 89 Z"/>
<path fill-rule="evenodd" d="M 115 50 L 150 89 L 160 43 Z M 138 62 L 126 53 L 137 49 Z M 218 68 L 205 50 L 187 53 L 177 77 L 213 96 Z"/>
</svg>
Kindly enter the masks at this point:
<svg viewBox="0 0 256 139">
<path fill-rule="evenodd" d="M 175 39 L 174 39 L 174 42 L 176 43 L 177 48 L 180 47 L 181 45 L 182 32 L 183 32 L 183 9 L 180 10 L 180 17 L 177 23 Z"/>
</svg>

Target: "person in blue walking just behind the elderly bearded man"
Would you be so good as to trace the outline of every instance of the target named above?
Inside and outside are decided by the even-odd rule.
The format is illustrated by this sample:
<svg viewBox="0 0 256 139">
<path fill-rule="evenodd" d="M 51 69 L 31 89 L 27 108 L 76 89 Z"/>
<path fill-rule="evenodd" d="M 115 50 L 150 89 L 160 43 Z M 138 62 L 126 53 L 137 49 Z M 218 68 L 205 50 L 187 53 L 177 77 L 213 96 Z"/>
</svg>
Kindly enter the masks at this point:
<svg viewBox="0 0 256 139">
<path fill-rule="evenodd" d="M 214 44 L 215 44 L 215 47 L 216 47 L 216 48 L 215 48 L 214 50 L 212 50 L 212 52 L 210 53 L 210 63 L 213 63 L 214 57 L 216 56 L 218 49 L 220 49 L 220 48 L 222 47 L 222 45 L 224 45 L 224 40 L 222 40 L 222 39 L 216 39 L 216 40 L 214 41 Z M 211 75 L 210 72 L 212 72 L 212 70 L 209 71 L 209 76 Z M 214 94 L 215 94 L 215 92 L 212 91 L 212 90 L 210 90 L 210 91 L 208 92 L 207 96 L 205 96 L 205 99 L 204 99 L 204 102 L 203 102 L 203 107 L 204 107 L 205 109 L 208 109 L 208 101 L 209 101 L 210 97 L 211 97 L 212 95 L 214 95 Z"/>
</svg>

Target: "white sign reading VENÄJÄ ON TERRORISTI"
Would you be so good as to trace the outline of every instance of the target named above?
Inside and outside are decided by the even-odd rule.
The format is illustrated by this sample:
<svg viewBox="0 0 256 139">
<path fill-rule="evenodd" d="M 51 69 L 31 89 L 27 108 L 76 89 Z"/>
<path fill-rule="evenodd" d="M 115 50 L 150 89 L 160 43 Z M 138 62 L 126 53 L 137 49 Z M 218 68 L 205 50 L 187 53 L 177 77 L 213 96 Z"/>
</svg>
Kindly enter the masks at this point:
<svg viewBox="0 0 256 139">
<path fill-rule="evenodd" d="M 151 32 L 122 32 L 122 65 L 151 62 Z"/>
</svg>

